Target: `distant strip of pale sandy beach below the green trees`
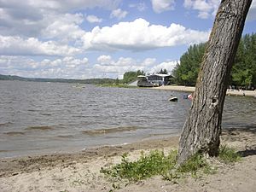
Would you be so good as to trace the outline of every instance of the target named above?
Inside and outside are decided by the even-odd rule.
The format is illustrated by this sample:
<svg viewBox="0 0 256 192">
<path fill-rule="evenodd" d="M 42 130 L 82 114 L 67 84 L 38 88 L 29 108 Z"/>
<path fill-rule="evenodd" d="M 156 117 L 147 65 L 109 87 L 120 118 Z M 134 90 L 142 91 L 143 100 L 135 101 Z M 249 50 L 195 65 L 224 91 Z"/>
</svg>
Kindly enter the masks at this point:
<svg viewBox="0 0 256 192">
<path fill-rule="evenodd" d="M 153 87 L 154 90 L 176 90 L 176 91 L 185 91 L 185 92 L 194 92 L 195 87 L 189 86 L 177 86 L 177 85 L 166 85 L 160 87 Z M 227 90 L 228 96 L 254 96 L 256 97 L 256 90 Z"/>
</svg>

